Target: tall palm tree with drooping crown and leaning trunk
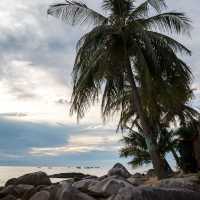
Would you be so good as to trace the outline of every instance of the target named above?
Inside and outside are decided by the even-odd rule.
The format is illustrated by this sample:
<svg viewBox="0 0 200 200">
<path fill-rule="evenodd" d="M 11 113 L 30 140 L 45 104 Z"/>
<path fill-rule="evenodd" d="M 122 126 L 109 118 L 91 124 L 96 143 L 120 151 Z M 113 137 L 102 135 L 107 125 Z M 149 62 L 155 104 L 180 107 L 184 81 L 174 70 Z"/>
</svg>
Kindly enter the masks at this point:
<svg viewBox="0 0 200 200">
<path fill-rule="evenodd" d="M 151 99 L 149 94 L 154 90 L 153 86 L 157 86 L 166 91 L 166 95 L 160 95 L 160 99 L 166 101 L 164 96 L 170 93 L 175 83 L 179 94 L 176 101 L 187 98 L 185 94 L 189 88 L 190 70 L 176 53 L 191 52 L 156 30 L 183 34 L 188 31 L 190 21 L 183 13 L 161 13 L 166 8 L 164 0 L 146 0 L 138 7 L 134 0 L 102 0 L 102 8 L 108 16 L 76 1 L 66 0 L 48 9 L 48 14 L 72 25 L 94 25 L 77 44 L 71 112 L 76 112 L 78 119 L 82 118 L 85 111 L 99 99 L 101 89 L 104 107 L 110 104 L 112 98 L 123 96 L 128 85 L 131 88 L 132 107 L 140 119 L 154 168 L 158 177 L 162 178 L 165 176 L 164 162 L 153 139 L 154 133 L 143 100 Z M 149 16 L 150 8 L 157 15 Z M 167 85 L 165 79 L 170 80 L 171 84 Z M 139 93 L 138 87 L 142 88 L 142 92 Z M 155 99 L 151 101 L 151 105 L 155 102 Z"/>
</svg>

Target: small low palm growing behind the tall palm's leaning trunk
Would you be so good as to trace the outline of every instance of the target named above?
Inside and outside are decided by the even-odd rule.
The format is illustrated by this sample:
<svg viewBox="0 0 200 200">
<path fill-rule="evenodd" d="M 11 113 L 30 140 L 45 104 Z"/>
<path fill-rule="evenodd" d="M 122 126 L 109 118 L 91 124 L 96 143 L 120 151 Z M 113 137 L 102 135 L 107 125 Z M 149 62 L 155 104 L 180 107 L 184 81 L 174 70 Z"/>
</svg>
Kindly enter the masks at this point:
<svg viewBox="0 0 200 200">
<path fill-rule="evenodd" d="M 140 130 L 135 131 L 131 128 L 128 129 L 128 135 L 124 136 L 121 140 L 124 144 L 124 147 L 120 150 L 121 157 L 132 157 L 129 164 L 133 167 L 151 163 L 152 160 L 148 152 L 144 134 L 140 132 Z M 163 158 L 165 158 L 167 153 L 171 152 L 177 162 L 177 165 L 179 165 L 179 157 L 176 153 L 176 143 L 173 131 L 162 129 L 161 132 L 158 133 L 156 141 Z M 165 170 L 168 171 L 169 174 L 172 173 L 172 169 L 166 160 L 165 163 Z"/>
</svg>

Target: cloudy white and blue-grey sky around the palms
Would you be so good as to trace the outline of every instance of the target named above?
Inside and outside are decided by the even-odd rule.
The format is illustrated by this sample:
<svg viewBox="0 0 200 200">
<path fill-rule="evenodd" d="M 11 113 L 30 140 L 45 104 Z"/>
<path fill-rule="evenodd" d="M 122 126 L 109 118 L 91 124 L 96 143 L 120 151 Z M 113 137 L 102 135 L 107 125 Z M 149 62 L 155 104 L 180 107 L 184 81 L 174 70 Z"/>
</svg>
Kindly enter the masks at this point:
<svg viewBox="0 0 200 200">
<path fill-rule="evenodd" d="M 90 27 L 70 27 L 47 16 L 55 0 L 0 1 L 0 165 L 105 165 L 119 158 L 117 116 L 102 123 L 100 107 L 79 123 L 69 115 L 71 71 L 77 40 Z M 62 0 L 60 1 L 62 2 Z M 101 0 L 85 0 L 101 11 Z M 191 37 L 176 38 L 193 54 L 195 96 L 200 103 L 198 0 L 167 1 L 192 19 Z"/>
</svg>

